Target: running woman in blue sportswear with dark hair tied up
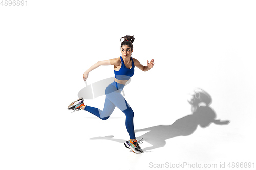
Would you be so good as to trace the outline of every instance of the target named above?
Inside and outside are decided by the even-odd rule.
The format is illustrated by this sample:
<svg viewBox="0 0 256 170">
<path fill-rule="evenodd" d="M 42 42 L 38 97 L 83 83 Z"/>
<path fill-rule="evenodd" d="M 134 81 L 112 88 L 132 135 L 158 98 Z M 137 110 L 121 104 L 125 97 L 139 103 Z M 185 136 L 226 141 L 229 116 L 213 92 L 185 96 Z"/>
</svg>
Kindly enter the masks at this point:
<svg viewBox="0 0 256 170">
<path fill-rule="evenodd" d="M 142 71 L 148 71 L 153 68 L 154 60 L 152 59 L 150 62 L 148 62 L 147 60 L 147 66 L 141 65 L 137 59 L 131 57 L 133 53 L 133 35 L 125 36 L 122 38 L 124 38 L 124 41 L 121 43 L 121 57 L 105 61 L 99 61 L 91 66 L 83 74 L 83 79 L 84 81 L 86 81 L 89 72 L 91 72 L 95 68 L 101 65 L 114 65 L 115 81 L 111 83 L 105 90 L 106 99 L 104 109 L 100 110 L 98 108 L 84 105 L 83 98 L 79 98 L 78 100 L 72 102 L 69 105 L 68 109 L 72 109 L 74 111 L 86 110 L 99 117 L 100 119 L 106 120 L 110 117 L 115 107 L 118 107 L 126 116 L 125 125 L 130 136 L 130 140 L 124 143 L 125 147 L 130 148 L 134 153 L 142 153 L 143 151 L 140 148 L 138 141 L 136 140 L 134 132 L 134 112 L 122 96 L 121 91 L 123 90 L 125 83 L 130 79 L 130 77 L 134 75 L 134 67 L 138 67 Z M 120 39 L 120 41 L 122 40 L 122 38 Z"/>
</svg>

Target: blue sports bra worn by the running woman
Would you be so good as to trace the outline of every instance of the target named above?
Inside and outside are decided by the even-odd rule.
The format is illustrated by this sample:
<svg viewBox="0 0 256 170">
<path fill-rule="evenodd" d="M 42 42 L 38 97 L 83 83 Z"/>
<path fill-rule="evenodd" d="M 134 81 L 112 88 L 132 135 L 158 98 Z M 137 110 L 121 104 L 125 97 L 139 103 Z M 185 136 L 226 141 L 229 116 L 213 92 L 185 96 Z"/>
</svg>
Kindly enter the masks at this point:
<svg viewBox="0 0 256 170">
<path fill-rule="evenodd" d="M 131 59 L 132 59 L 132 68 L 131 69 L 127 68 L 125 66 L 124 62 L 123 62 L 123 58 L 122 57 L 120 57 L 120 58 L 121 58 L 121 61 L 122 61 L 122 66 L 118 71 L 114 70 L 115 78 L 118 79 L 118 80 L 129 80 L 130 77 L 132 77 L 133 74 L 134 74 L 133 58 L 131 57 Z"/>
</svg>

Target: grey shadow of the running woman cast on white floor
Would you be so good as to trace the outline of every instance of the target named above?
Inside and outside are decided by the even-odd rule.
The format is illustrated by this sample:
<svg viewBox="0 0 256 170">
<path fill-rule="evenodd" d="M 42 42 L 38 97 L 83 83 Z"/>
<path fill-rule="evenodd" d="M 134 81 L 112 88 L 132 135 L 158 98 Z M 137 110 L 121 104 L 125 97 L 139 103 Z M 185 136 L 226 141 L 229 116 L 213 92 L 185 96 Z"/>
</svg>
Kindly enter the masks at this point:
<svg viewBox="0 0 256 170">
<path fill-rule="evenodd" d="M 149 131 L 137 137 L 137 139 L 143 138 L 142 141 L 146 141 L 152 145 L 150 147 L 143 148 L 143 151 L 164 147 L 166 144 L 165 140 L 167 139 L 177 136 L 191 135 L 196 131 L 198 126 L 206 128 L 211 123 L 216 125 L 227 125 L 230 123 L 228 120 L 216 120 L 215 111 L 209 107 L 211 104 L 211 97 L 205 91 L 196 91 L 193 98 L 188 102 L 191 104 L 191 110 L 193 113 L 176 120 L 172 125 L 158 125 L 135 130 L 135 132 Z M 204 106 L 200 106 L 202 103 L 204 103 Z M 124 143 L 126 141 L 123 139 L 114 139 L 113 137 L 114 136 L 94 137 L 91 138 L 91 140 L 105 139 L 119 143 Z"/>
</svg>

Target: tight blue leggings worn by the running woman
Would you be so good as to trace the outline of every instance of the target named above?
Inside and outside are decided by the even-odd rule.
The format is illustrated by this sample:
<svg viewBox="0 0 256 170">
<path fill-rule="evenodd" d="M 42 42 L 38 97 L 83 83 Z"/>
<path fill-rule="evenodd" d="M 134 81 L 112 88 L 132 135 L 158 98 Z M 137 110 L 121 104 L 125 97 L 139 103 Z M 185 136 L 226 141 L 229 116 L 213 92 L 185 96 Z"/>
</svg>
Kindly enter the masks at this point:
<svg viewBox="0 0 256 170">
<path fill-rule="evenodd" d="M 130 139 L 135 139 L 134 125 L 133 125 L 133 116 L 134 112 L 129 106 L 127 101 L 122 96 L 121 91 L 123 90 L 124 85 L 117 82 L 111 83 L 106 87 L 105 94 L 106 100 L 104 109 L 100 110 L 95 107 L 86 106 L 84 110 L 94 114 L 102 120 L 106 120 L 110 117 L 115 107 L 118 107 L 126 116 L 125 126 L 129 133 Z"/>
</svg>

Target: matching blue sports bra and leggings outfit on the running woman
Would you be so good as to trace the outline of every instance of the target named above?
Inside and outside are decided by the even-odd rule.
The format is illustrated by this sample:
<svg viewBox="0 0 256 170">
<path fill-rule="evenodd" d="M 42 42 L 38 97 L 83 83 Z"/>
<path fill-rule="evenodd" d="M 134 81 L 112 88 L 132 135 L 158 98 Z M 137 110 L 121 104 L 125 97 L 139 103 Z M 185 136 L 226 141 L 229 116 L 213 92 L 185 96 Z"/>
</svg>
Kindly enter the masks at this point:
<svg viewBox="0 0 256 170">
<path fill-rule="evenodd" d="M 121 58 L 122 65 L 119 71 L 114 70 L 115 78 L 118 80 L 129 80 L 130 77 L 134 75 L 134 62 L 132 60 L 132 68 L 129 69 L 125 66 L 124 61 Z M 103 110 L 100 110 L 95 107 L 86 106 L 84 110 L 94 114 L 95 116 L 99 117 L 102 120 L 106 120 L 110 117 L 112 112 L 114 111 L 115 107 L 118 107 L 126 116 L 125 126 L 130 135 L 130 139 L 135 139 L 134 133 L 134 125 L 133 125 L 133 117 L 134 112 L 132 108 L 129 106 L 127 101 L 121 94 L 121 91 L 124 88 L 124 84 L 119 84 L 117 82 L 111 83 L 105 90 L 106 99 Z"/>
</svg>

